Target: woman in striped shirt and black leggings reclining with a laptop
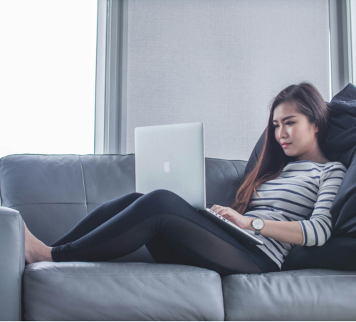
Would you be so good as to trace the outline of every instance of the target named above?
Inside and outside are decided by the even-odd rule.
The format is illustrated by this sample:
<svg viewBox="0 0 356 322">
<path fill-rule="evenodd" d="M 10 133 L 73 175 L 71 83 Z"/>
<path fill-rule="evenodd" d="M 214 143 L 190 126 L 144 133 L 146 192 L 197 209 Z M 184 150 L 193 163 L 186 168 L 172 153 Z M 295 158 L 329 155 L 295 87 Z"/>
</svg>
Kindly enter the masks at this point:
<svg viewBox="0 0 356 322">
<path fill-rule="evenodd" d="M 237 241 L 177 194 L 155 190 L 105 202 L 51 247 L 25 225 L 26 264 L 110 261 L 146 245 L 157 263 L 199 266 L 221 277 L 280 271 L 293 246 L 322 246 L 331 235 L 329 209 L 347 169 L 325 157 L 328 118 L 312 84 L 282 90 L 271 105 L 263 151 L 234 204 L 211 208 L 251 233 L 253 220 L 262 219 L 263 246 Z"/>
</svg>

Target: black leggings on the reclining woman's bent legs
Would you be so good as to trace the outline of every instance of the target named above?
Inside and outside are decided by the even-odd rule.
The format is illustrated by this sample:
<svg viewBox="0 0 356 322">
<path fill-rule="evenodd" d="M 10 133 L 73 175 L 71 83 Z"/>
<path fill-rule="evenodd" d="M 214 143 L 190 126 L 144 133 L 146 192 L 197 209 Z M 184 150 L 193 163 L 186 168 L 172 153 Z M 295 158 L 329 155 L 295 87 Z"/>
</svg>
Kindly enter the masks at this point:
<svg viewBox="0 0 356 322">
<path fill-rule="evenodd" d="M 105 202 L 50 246 L 53 261 L 110 261 L 146 245 L 158 264 L 231 274 L 280 271 L 261 249 L 241 243 L 174 192 L 132 193 Z"/>
</svg>

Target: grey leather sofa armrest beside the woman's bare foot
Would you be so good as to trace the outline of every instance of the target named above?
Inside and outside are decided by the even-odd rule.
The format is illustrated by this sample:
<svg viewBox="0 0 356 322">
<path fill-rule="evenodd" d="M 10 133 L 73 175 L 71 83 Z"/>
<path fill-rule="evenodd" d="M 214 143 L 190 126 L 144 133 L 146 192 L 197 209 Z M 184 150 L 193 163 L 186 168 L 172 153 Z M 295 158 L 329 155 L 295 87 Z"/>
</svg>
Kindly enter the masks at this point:
<svg viewBox="0 0 356 322">
<path fill-rule="evenodd" d="M 24 228 L 18 211 L 0 207 L 0 321 L 23 320 Z"/>
</svg>

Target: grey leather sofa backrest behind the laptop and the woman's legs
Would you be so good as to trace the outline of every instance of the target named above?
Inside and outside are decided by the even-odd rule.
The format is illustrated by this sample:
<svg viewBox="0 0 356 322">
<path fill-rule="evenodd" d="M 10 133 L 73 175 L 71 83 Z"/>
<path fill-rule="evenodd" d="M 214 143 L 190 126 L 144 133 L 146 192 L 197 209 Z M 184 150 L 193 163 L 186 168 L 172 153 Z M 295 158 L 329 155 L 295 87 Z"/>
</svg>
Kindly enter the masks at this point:
<svg viewBox="0 0 356 322">
<path fill-rule="evenodd" d="M 231 206 L 246 164 L 206 158 L 206 207 Z M 18 210 L 47 245 L 100 204 L 135 191 L 135 154 L 26 154 L 0 160 L 1 206 Z"/>
</svg>

